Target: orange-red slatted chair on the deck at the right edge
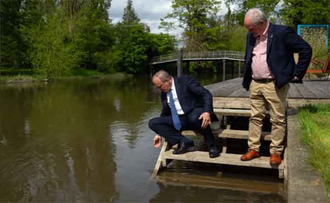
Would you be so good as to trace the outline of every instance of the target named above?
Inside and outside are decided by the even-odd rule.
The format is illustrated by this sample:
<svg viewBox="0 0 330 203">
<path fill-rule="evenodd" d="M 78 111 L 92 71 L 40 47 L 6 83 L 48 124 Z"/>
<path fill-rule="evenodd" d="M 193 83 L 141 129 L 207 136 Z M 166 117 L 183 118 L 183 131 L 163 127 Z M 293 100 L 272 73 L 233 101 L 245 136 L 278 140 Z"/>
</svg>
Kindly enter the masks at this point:
<svg viewBox="0 0 330 203">
<path fill-rule="evenodd" d="M 316 65 L 316 69 L 311 69 L 311 66 L 308 67 L 306 74 L 308 74 L 308 78 L 310 80 L 330 80 L 330 53 L 328 53 L 326 61 L 321 61 L 317 59 L 312 59 L 311 63 Z M 311 74 L 318 74 L 321 75 L 320 79 L 311 79 Z"/>
</svg>

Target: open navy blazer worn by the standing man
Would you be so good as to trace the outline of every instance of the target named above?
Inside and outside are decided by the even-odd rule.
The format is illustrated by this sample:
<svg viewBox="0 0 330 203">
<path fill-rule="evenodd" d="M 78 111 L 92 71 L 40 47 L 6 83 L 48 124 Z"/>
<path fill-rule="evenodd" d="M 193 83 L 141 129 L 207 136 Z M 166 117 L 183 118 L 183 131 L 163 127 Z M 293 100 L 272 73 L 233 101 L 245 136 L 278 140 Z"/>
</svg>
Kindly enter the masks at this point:
<svg viewBox="0 0 330 203">
<path fill-rule="evenodd" d="M 247 33 L 246 50 L 244 57 L 243 87 L 249 90 L 252 80 L 252 50 L 255 38 Z M 293 53 L 299 53 L 299 61 L 294 62 Z M 267 36 L 267 63 L 275 76 L 275 86 L 280 89 L 290 82 L 294 76 L 298 77 L 296 83 L 302 83 L 312 58 L 311 46 L 297 35 L 292 28 L 284 25 L 269 23 Z"/>
</svg>

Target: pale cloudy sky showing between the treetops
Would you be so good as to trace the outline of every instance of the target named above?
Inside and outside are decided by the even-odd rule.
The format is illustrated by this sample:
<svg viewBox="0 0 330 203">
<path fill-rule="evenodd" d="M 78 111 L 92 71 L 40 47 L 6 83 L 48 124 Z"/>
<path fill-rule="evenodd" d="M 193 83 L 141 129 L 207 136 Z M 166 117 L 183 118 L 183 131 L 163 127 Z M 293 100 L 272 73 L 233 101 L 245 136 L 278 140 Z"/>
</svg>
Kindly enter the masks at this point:
<svg viewBox="0 0 330 203">
<path fill-rule="evenodd" d="M 127 5 L 126 0 L 112 0 L 111 8 L 109 9 L 109 18 L 114 23 L 121 21 L 124 8 Z M 158 29 L 160 18 L 171 13 L 172 0 L 133 0 L 133 7 L 142 22 L 150 26 L 150 31 L 154 33 L 165 32 L 163 29 Z M 227 12 L 225 5 L 222 3 L 220 15 Z M 171 31 L 171 34 L 179 38 L 182 29 Z"/>
</svg>

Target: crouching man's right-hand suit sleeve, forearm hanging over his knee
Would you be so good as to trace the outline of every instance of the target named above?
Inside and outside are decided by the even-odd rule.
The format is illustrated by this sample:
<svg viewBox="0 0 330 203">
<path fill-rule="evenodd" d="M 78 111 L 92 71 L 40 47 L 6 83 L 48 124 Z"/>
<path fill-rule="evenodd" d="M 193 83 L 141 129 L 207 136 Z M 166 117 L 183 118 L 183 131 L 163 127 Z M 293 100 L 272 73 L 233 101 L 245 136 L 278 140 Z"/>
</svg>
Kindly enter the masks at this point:
<svg viewBox="0 0 330 203">
<path fill-rule="evenodd" d="M 188 88 L 196 96 L 203 97 L 203 111 L 213 113 L 212 94 L 209 90 L 205 89 L 194 78 L 188 77 Z"/>
</svg>

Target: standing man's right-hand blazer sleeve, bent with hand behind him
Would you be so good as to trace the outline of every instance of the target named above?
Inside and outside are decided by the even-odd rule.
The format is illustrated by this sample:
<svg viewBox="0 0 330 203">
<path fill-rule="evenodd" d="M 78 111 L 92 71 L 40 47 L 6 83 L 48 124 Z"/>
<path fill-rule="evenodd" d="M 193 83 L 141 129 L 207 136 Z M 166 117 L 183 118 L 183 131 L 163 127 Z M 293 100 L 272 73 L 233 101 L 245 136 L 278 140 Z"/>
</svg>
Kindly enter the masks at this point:
<svg viewBox="0 0 330 203">
<path fill-rule="evenodd" d="M 309 63 L 312 58 L 312 48 L 311 46 L 303 40 L 299 35 L 297 35 L 292 28 L 287 27 L 285 29 L 285 44 L 290 47 L 294 53 L 299 54 L 299 60 L 296 64 L 296 69 L 294 75 L 299 79 L 302 79 L 308 69 Z"/>
</svg>

